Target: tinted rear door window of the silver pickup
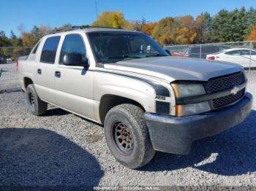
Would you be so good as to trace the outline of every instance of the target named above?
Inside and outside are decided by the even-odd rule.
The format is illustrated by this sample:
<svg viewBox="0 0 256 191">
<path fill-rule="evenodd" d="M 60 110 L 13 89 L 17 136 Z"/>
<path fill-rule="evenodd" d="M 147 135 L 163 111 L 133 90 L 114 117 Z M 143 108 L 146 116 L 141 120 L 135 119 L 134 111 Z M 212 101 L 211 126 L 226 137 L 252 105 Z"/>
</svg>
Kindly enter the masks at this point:
<svg viewBox="0 0 256 191">
<path fill-rule="evenodd" d="M 56 51 L 59 46 L 60 36 L 53 36 L 46 39 L 44 47 L 42 48 L 42 54 L 40 62 L 42 63 L 54 63 Z"/>
</svg>

